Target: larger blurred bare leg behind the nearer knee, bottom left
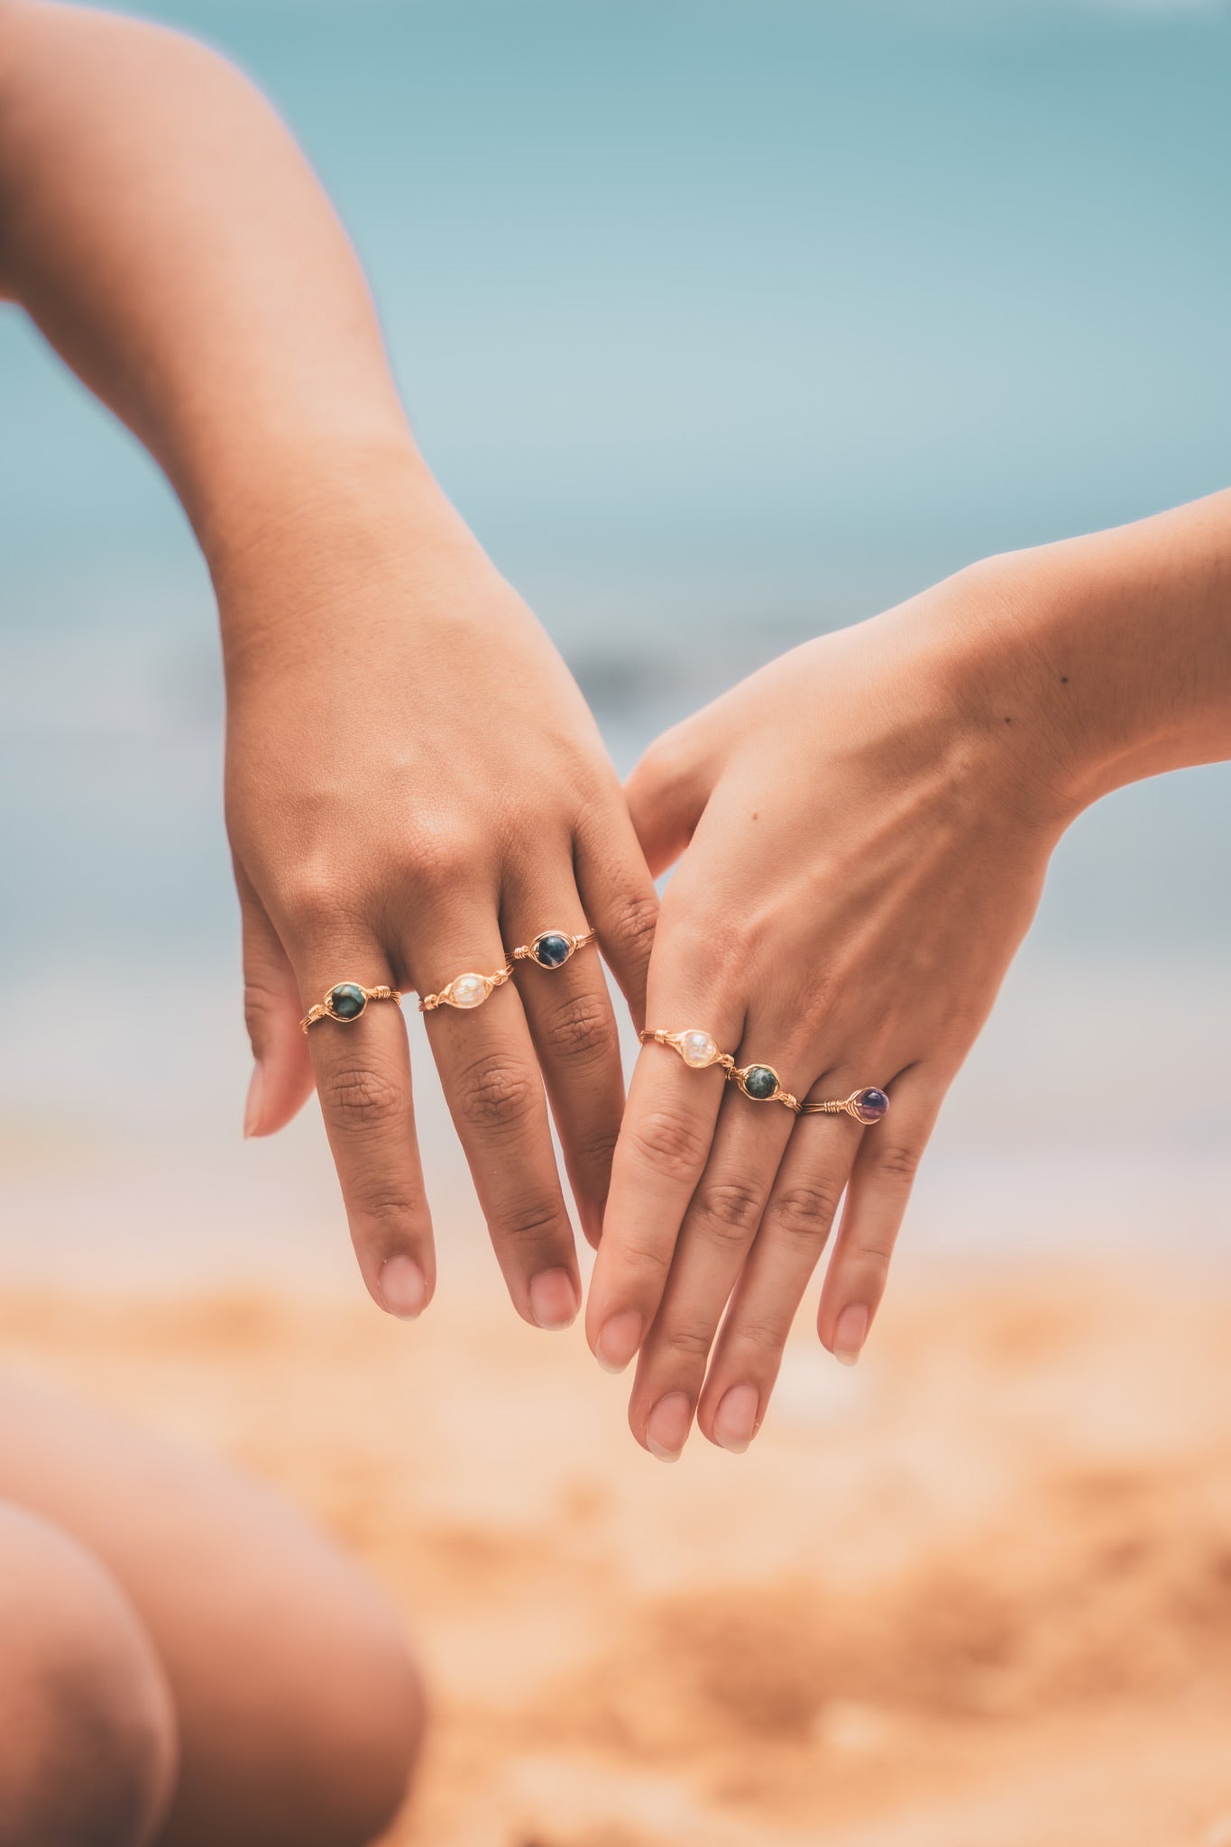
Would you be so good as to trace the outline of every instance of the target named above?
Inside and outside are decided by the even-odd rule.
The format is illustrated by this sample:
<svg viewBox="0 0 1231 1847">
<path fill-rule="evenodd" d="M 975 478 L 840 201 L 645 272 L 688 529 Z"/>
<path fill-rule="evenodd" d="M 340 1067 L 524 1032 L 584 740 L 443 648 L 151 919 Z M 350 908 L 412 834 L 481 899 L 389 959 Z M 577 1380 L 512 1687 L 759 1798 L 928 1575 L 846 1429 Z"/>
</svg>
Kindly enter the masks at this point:
<svg viewBox="0 0 1231 1847">
<path fill-rule="evenodd" d="M 133 1686 L 146 1638 L 149 1673 L 166 1677 L 179 1777 L 159 1847 L 362 1847 L 391 1819 L 423 1723 L 397 1614 L 269 1492 L 0 1378 L 0 1502 L 70 1535 L 79 1568 L 111 1579 L 114 1609 L 127 1600 Z M 26 1553 L 31 1531 L 26 1520 Z M 48 1574 L 66 1546 L 48 1533 Z M 7 1575 L 0 1551 L 0 1585 Z M 0 1714 L 6 1697 L 20 1697 L 6 1686 L 13 1625 L 37 1668 L 55 1590 L 48 1583 L 42 1603 L 13 1601 L 0 1596 Z M 52 1624 L 46 1635 L 52 1646 L 59 1631 Z M 0 1723 L 0 1847 L 61 1847 L 54 1834 L 4 1832 L 11 1749 Z M 129 1847 L 146 1836 L 68 1832 L 65 1847 L 96 1838 Z"/>
</svg>

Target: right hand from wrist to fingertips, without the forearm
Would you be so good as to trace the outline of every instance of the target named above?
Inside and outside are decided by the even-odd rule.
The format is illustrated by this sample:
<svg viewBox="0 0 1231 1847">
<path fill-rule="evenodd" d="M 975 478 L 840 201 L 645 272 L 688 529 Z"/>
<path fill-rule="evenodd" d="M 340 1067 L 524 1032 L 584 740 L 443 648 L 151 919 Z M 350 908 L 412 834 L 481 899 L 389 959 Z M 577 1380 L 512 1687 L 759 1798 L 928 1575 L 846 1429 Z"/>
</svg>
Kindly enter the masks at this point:
<svg viewBox="0 0 1231 1847">
<path fill-rule="evenodd" d="M 640 1354 L 629 1422 L 663 1459 L 694 1413 L 747 1448 L 843 1195 L 819 1335 L 858 1358 L 936 1114 L 1034 914 L 1061 831 L 1050 741 L 1024 691 L 954 670 L 995 595 L 986 567 L 786 654 L 629 779 L 651 870 L 677 863 L 648 1029 L 701 1036 L 642 1045 L 587 1332 L 613 1370 Z M 890 1108 L 795 1114 L 775 1079 L 801 1105 L 875 1086 Z"/>
</svg>

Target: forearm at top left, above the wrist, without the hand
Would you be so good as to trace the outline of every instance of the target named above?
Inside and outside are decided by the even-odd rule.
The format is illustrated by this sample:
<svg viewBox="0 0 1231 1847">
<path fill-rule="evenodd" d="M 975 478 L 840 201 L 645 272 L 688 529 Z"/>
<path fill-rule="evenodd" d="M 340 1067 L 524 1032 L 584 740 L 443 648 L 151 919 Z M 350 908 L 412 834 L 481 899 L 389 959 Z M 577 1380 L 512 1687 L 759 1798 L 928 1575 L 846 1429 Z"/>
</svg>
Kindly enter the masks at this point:
<svg viewBox="0 0 1231 1847">
<path fill-rule="evenodd" d="M 354 456 L 419 471 L 325 194 L 177 33 L 0 7 L 0 284 L 157 456 L 216 569 Z"/>
</svg>

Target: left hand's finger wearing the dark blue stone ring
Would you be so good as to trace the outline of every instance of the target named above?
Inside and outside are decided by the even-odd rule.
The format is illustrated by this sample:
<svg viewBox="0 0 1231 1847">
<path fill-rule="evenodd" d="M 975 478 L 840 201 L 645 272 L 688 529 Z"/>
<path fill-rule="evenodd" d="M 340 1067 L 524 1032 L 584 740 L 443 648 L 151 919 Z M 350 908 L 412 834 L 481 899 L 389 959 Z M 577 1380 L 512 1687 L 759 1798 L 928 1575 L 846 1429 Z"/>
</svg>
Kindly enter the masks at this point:
<svg viewBox="0 0 1231 1847">
<path fill-rule="evenodd" d="M 550 959 L 565 953 L 570 938 L 589 925 L 576 887 L 552 896 L 544 896 L 543 887 L 535 892 L 530 885 L 515 885 L 506 940 L 519 948 L 539 942 L 539 955 Z M 598 1245 L 624 1112 L 624 1073 L 596 948 L 576 949 L 559 966 L 541 966 L 533 955 L 519 959 L 517 992 L 539 1055 L 578 1217 L 589 1241 Z"/>
</svg>

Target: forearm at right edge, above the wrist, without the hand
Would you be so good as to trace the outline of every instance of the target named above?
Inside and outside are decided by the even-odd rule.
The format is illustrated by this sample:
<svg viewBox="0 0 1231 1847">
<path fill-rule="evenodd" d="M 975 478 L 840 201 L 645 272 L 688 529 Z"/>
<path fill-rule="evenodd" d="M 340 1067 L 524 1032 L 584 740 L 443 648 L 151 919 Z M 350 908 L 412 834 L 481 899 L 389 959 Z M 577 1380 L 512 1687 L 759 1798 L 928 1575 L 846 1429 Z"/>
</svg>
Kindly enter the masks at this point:
<svg viewBox="0 0 1231 1847">
<path fill-rule="evenodd" d="M 1231 491 L 963 573 L 980 720 L 1046 759 L 1061 820 L 1231 757 Z"/>
</svg>

